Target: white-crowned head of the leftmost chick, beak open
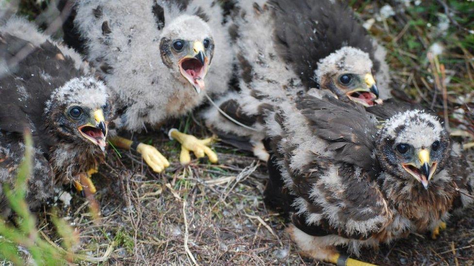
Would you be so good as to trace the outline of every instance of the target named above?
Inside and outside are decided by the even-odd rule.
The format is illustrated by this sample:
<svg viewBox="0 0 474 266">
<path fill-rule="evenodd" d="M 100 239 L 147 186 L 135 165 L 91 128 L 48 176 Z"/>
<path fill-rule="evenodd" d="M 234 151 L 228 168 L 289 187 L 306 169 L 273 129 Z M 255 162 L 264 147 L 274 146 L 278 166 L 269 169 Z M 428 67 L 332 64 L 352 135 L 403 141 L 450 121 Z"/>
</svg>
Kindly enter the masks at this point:
<svg viewBox="0 0 474 266">
<path fill-rule="evenodd" d="M 51 95 L 45 121 L 60 141 L 97 145 L 104 151 L 110 113 L 107 90 L 101 81 L 73 78 Z"/>
</svg>

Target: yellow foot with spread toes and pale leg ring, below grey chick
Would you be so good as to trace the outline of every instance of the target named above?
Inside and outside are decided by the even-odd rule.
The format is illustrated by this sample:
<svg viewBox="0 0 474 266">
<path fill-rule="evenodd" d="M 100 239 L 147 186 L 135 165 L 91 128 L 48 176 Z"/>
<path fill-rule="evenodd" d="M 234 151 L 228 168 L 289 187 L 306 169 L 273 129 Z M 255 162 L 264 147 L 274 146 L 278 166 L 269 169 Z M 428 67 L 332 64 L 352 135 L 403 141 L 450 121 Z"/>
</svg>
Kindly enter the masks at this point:
<svg viewBox="0 0 474 266">
<path fill-rule="evenodd" d="M 191 161 L 189 152 L 193 152 L 197 158 L 207 156 L 209 161 L 216 163 L 218 161 L 217 154 L 213 152 L 208 146 L 215 140 L 215 138 L 207 138 L 199 140 L 192 135 L 187 135 L 179 132 L 177 129 L 172 128 L 168 133 L 171 139 L 174 139 L 181 143 L 181 153 L 179 161 L 182 164 L 187 164 Z"/>
</svg>

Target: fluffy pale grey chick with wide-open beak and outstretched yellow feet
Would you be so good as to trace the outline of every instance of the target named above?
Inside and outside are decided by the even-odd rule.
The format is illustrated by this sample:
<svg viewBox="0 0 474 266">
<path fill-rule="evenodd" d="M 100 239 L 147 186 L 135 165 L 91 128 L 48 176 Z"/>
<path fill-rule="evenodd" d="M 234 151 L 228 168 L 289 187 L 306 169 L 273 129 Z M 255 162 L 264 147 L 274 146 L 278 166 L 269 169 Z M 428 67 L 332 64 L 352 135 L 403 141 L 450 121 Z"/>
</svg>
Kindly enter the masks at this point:
<svg viewBox="0 0 474 266">
<path fill-rule="evenodd" d="M 219 3 L 208 0 L 79 0 L 65 24 L 65 41 L 84 52 L 111 88 L 116 128 L 136 132 L 192 111 L 206 92 L 227 89 L 233 55 L 221 13 Z M 190 161 L 190 151 L 217 161 L 210 139 L 176 129 L 169 136 L 182 145 L 182 163 Z M 150 145 L 111 140 L 135 148 L 155 172 L 169 166 Z"/>
</svg>

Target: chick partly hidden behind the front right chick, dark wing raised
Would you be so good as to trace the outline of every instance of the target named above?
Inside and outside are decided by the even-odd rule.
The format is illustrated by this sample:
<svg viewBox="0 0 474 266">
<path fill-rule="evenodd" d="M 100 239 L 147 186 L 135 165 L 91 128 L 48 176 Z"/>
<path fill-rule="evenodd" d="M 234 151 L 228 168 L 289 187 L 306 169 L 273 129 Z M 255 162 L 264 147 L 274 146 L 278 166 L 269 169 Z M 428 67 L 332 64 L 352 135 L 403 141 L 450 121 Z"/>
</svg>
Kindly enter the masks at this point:
<svg viewBox="0 0 474 266">
<path fill-rule="evenodd" d="M 265 135 L 257 118 L 262 107 L 277 106 L 278 98 L 319 88 L 342 101 L 372 106 L 379 94 L 387 96 L 388 66 L 383 58 L 375 59 L 384 55 L 383 48 L 339 2 L 241 1 L 236 6 L 231 29 L 237 42 L 241 92 L 230 92 L 217 102 L 232 118 L 256 130 L 235 125 L 209 109 L 204 114 L 206 123 L 221 139 L 250 140 L 254 154 L 267 160 L 261 148 Z M 341 21 L 334 23 L 334 17 Z M 380 91 L 372 73 L 385 85 Z M 285 93 L 277 96 L 277 92 Z M 246 147 L 242 141 L 237 146 Z"/>
</svg>

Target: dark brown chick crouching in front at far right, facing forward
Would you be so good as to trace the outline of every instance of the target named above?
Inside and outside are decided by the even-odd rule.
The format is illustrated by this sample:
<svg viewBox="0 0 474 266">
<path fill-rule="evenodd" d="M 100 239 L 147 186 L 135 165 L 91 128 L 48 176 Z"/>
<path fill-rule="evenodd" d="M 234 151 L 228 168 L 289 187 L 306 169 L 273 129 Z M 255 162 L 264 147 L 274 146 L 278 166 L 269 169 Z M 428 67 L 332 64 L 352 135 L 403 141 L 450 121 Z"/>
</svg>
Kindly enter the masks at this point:
<svg viewBox="0 0 474 266">
<path fill-rule="evenodd" d="M 358 255 L 436 232 L 456 204 L 472 202 L 457 188 L 472 188 L 473 176 L 453 172 L 457 152 L 430 113 L 406 110 L 379 124 L 361 106 L 306 95 L 270 113 L 267 128 L 293 211 L 288 232 L 317 260 L 358 265 L 336 247 Z"/>
</svg>

